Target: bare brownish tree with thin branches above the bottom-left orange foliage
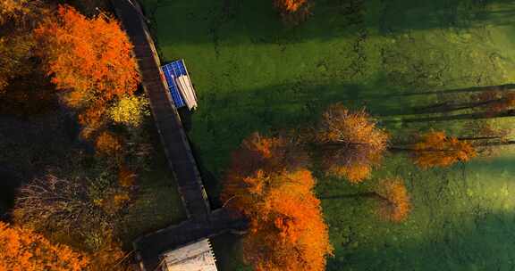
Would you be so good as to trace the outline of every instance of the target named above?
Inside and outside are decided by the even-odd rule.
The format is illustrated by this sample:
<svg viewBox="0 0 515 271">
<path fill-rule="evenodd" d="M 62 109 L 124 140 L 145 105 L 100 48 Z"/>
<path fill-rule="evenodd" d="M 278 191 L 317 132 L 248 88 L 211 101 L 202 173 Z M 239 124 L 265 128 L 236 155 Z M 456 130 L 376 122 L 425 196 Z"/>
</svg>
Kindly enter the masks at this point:
<svg viewBox="0 0 515 271">
<path fill-rule="evenodd" d="M 35 178 L 21 186 L 15 200 L 13 218 L 16 222 L 40 230 L 58 230 L 90 237 L 114 229 L 119 215 L 108 211 L 113 190 L 101 181 L 86 178 L 58 178 L 53 175 Z M 96 245 L 94 245 L 96 246 Z"/>
</svg>

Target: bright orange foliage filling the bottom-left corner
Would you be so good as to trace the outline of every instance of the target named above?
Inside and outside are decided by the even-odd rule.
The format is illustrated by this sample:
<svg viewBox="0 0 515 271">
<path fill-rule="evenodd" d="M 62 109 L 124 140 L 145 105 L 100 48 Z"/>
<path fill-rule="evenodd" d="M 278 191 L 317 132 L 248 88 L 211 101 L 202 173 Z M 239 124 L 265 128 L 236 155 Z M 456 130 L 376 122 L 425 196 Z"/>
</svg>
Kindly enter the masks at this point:
<svg viewBox="0 0 515 271">
<path fill-rule="evenodd" d="M 65 245 L 52 244 L 30 229 L 0 221 L 0 270 L 80 271 L 88 266 L 87 256 Z"/>
</svg>

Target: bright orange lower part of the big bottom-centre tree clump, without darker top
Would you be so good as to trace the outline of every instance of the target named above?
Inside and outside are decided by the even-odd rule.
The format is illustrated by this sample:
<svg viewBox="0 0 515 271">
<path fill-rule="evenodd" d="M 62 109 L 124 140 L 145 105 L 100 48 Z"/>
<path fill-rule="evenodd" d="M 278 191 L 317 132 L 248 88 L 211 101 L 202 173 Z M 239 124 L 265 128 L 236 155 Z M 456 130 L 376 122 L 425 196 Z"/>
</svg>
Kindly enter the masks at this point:
<svg viewBox="0 0 515 271">
<path fill-rule="evenodd" d="M 234 194 L 229 206 L 250 219 L 244 259 L 258 271 L 325 270 L 332 248 L 311 173 L 258 171 L 241 181 L 248 189 Z"/>
</svg>

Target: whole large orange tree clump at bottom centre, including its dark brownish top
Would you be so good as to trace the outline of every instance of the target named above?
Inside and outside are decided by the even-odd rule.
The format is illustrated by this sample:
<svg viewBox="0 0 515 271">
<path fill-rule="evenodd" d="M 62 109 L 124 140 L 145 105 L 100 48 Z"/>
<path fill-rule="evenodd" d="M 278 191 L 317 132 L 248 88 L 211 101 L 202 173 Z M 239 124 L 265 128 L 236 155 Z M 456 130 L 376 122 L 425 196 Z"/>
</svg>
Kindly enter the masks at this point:
<svg viewBox="0 0 515 271">
<path fill-rule="evenodd" d="M 256 270 L 325 270 L 332 247 L 315 179 L 288 162 L 304 155 L 288 150 L 283 138 L 250 136 L 233 154 L 222 200 L 249 218 L 244 259 Z"/>
</svg>

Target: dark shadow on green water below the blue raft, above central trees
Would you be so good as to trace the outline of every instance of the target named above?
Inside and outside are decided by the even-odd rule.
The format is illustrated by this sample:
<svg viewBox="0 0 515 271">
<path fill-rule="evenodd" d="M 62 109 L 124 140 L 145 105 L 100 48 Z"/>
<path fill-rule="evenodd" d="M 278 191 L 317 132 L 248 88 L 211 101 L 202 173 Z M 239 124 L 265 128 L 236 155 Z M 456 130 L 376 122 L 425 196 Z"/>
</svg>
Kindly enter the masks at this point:
<svg viewBox="0 0 515 271">
<path fill-rule="evenodd" d="M 329 104 L 342 102 L 351 110 L 366 108 L 372 115 L 403 111 L 409 99 L 356 101 L 353 96 L 376 88 L 340 84 L 285 84 L 246 92 L 207 93 L 200 96 L 192 115 L 190 139 L 200 170 L 221 177 L 231 152 L 254 132 L 274 133 L 312 127 Z"/>
</svg>

